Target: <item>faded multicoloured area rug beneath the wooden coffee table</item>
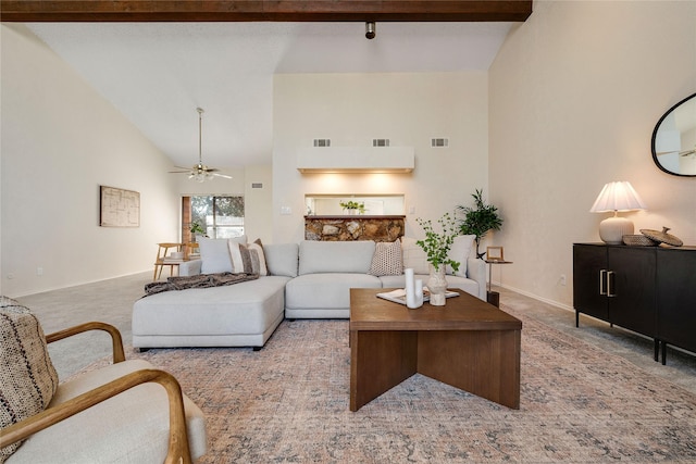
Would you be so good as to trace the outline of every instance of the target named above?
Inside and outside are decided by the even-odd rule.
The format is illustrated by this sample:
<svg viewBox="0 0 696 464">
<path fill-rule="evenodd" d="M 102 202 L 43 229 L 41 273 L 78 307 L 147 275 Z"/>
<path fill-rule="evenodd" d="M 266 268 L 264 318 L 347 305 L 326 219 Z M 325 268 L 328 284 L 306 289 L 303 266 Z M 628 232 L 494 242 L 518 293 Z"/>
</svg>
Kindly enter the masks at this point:
<svg viewBox="0 0 696 464">
<path fill-rule="evenodd" d="M 521 407 L 414 375 L 350 412 L 347 321 L 266 346 L 130 353 L 207 415 L 202 463 L 694 463 L 696 396 L 524 314 Z"/>
</svg>

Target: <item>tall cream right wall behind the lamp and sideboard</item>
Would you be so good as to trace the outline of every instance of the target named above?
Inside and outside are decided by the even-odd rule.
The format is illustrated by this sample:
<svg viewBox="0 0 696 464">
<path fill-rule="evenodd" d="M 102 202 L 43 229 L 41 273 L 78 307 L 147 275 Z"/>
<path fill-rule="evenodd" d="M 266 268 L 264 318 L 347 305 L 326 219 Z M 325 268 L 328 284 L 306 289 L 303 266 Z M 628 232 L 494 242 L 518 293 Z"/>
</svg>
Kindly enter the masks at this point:
<svg viewBox="0 0 696 464">
<path fill-rule="evenodd" d="M 696 91 L 695 24 L 693 1 L 535 1 L 510 34 L 489 70 L 504 285 L 572 306 L 572 243 L 599 241 L 607 215 L 588 210 L 612 180 L 649 208 L 626 214 L 636 234 L 668 226 L 696 244 L 696 178 L 650 154 L 657 121 Z"/>
</svg>

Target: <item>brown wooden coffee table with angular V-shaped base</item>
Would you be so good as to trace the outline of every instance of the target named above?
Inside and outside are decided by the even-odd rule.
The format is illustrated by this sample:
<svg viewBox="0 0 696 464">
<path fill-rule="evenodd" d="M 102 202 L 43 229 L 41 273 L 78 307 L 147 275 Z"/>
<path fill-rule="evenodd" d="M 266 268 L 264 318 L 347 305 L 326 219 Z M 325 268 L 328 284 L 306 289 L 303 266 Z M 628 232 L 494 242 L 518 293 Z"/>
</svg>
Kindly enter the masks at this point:
<svg viewBox="0 0 696 464">
<path fill-rule="evenodd" d="M 350 411 L 420 373 L 520 409 L 522 322 L 464 291 L 409 310 L 350 289 Z"/>
</svg>

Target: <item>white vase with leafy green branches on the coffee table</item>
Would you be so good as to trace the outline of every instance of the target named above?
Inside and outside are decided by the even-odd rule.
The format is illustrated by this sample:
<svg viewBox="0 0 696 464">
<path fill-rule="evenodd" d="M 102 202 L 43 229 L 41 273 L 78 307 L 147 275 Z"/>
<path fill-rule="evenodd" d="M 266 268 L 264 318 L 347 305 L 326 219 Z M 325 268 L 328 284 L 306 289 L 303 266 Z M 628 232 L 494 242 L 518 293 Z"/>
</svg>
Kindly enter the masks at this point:
<svg viewBox="0 0 696 464">
<path fill-rule="evenodd" d="M 427 262 L 430 263 L 430 278 L 425 284 L 431 293 L 431 304 L 434 306 L 445 305 L 445 291 L 447 290 L 447 278 L 445 277 L 445 268 L 449 264 L 455 273 L 459 271 L 459 262 L 448 256 L 449 250 L 455 242 L 457 224 L 453 216 L 445 213 L 443 217 L 437 220 L 442 233 L 436 233 L 433 228 L 431 220 L 415 220 L 418 224 L 425 230 L 425 238 L 417 240 L 415 243 L 425 251 Z"/>
</svg>

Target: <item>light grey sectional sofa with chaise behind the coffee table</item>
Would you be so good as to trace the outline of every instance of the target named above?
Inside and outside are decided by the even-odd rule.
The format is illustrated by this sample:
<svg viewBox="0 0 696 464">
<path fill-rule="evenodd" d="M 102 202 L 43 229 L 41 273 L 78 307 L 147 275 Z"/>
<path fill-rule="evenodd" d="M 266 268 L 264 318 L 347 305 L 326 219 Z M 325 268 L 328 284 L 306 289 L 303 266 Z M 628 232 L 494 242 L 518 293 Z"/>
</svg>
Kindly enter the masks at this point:
<svg viewBox="0 0 696 464">
<path fill-rule="evenodd" d="M 183 263 L 179 275 L 234 272 L 227 240 L 208 240 L 200 243 L 201 260 Z M 472 243 L 473 236 L 463 236 L 452 247 L 450 256 L 461 267 L 456 274 L 449 269 L 448 287 L 485 300 L 485 263 L 472 258 Z M 256 280 L 165 291 L 136 301 L 133 346 L 260 349 L 284 317 L 348 318 L 350 288 L 402 288 L 406 267 L 424 283 L 428 278 L 425 253 L 413 239 L 306 240 L 265 244 L 262 254 L 268 275 Z"/>
</svg>

